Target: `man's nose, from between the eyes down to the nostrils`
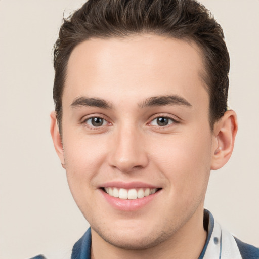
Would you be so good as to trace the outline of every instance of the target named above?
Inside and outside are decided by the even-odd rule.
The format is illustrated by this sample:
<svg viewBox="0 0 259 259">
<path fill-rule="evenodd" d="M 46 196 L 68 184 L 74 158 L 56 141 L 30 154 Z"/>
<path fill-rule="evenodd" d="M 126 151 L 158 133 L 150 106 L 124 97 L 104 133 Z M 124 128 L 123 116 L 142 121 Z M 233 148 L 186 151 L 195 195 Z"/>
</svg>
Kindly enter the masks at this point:
<svg viewBox="0 0 259 259">
<path fill-rule="evenodd" d="M 136 128 L 120 127 L 111 138 L 109 164 L 123 172 L 146 167 L 148 154 L 144 139 Z"/>
</svg>

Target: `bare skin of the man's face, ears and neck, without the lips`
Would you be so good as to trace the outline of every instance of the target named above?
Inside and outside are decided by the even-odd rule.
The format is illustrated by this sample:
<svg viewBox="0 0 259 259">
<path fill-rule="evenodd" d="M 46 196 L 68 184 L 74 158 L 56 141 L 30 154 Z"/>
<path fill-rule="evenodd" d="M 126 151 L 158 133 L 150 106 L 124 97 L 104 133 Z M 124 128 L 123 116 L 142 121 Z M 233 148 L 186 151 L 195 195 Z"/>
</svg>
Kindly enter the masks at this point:
<svg viewBox="0 0 259 259">
<path fill-rule="evenodd" d="M 228 161 L 237 131 L 234 111 L 210 130 L 199 48 L 149 34 L 90 39 L 73 50 L 67 69 L 62 141 L 55 112 L 51 134 L 92 228 L 92 258 L 198 258 L 210 170 Z M 144 105 L 158 96 L 190 105 Z M 79 98 L 106 100 L 111 107 L 78 105 Z M 93 126 L 94 117 L 103 125 Z M 158 125 L 159 117 L 168 124 Z M 110 181 L 161 189 L 145 206 L 122 211 L 104 199 L 100 186 Z"/>
</svg>

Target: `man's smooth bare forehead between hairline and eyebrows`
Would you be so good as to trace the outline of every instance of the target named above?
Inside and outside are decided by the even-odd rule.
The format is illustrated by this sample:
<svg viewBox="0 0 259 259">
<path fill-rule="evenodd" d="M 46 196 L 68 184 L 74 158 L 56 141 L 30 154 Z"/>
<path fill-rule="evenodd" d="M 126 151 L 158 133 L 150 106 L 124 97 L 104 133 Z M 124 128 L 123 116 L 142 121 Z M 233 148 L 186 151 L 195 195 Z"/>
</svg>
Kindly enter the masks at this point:
<svg viewBox="0 0 259 259">
<path fill-rule="evenodd" d="M 191 41 L 157 35 L 92 38 L 71 53 L 63 97 L 71 103 L 79 96 L 116 101 L 174 94 L 199 103 L 207 98 L 199 53 Z"/>
</svg>

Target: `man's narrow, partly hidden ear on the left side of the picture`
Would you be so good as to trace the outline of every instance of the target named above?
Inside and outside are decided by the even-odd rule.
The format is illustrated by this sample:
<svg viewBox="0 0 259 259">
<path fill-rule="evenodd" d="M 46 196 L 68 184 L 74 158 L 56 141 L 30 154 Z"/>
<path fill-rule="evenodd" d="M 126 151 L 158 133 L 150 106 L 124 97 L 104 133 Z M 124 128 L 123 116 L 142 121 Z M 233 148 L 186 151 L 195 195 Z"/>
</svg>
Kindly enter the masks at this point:
<svg viewBox="0 0 259 259">
<path fill-rule="evenodd" d="M 65 168 L 64 150 L 63 150 L 62 139 L 59 133 L 59 127 L 57 123 L 57 113 L 55 111 L 51 112 L 51 137 L 52 137 L 56 152 L 59 156 L 60 162 L 63 168 Z"/>
</svg>

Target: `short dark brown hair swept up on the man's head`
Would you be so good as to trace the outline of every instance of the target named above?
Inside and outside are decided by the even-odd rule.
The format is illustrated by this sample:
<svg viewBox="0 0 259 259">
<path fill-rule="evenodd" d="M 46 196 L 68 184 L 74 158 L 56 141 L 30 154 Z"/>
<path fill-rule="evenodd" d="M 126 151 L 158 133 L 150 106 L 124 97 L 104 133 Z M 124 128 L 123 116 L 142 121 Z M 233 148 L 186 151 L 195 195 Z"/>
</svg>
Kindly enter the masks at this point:
<svg viewBox="0 0 259 259">
<path fill-rule="evenodd" d="M 203 79 L 210 98 L 211 130 L 214 122 L 224 115 L 229 54 L 221 26 L 200 3 L 194 0 L 89 0 L 63 21 L 54 46 L 53 98 L 60 132 L 68 59 L 73 49 L 89 38 L 153 33 L 196 42 L 205 67 Z"/>
</svg>

